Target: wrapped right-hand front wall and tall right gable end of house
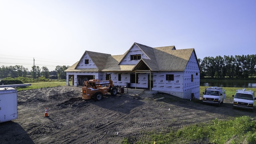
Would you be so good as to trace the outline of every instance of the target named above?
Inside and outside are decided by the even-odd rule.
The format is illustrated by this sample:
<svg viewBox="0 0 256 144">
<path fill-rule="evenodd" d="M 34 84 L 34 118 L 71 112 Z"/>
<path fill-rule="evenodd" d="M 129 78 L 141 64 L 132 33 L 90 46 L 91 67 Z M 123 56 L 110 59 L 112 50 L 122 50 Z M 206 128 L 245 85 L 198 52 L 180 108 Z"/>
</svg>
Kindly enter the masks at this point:
<svg viewBox="0 0 256 144">
<path fill-rule="evenodd" d="M 174 74 L 173 81 L 166 81 L 166 74 Z M 192 80 L 193 78 L 193 80 Z M 180 98 L 200 97 L 200 69 L 196 56 L 191 55 L 184 72 L 157 72 L 153 74 L 153 88 Z"/>
</svg>

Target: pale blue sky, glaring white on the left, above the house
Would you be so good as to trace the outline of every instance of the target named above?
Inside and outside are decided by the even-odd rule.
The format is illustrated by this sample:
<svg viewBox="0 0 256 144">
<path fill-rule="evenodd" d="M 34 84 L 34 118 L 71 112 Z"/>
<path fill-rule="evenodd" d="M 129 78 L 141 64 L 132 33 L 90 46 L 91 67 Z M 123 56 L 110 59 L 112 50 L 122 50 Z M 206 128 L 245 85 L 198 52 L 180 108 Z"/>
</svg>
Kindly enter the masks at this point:
<svg viewBox="0 0 256 144">
<path fill-rule="evenodd" d="M 0 66 L 71 66 L 134 42 L 197 58 L 256 54 L 256 0 L 0 0 Z"/>
</svg>

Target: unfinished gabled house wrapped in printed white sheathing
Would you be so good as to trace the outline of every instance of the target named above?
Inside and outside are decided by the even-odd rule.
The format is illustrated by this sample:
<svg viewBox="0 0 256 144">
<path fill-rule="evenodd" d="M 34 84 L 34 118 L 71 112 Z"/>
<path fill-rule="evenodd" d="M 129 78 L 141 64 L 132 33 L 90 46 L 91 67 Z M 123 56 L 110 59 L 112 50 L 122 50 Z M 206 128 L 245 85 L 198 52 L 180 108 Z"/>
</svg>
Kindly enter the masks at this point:
<svg viewBox="0 0 256 144">
<path fill-rule="evenodd" d="M 200 96 L 200 67 L 194 48 L 152 48 L 134 43 L 123 55 L 85 51 L 67 70 L 67 85 L 85 80 L 111 80 L 115 85 L 145 88 L 184 99 Z"/>
</svg>

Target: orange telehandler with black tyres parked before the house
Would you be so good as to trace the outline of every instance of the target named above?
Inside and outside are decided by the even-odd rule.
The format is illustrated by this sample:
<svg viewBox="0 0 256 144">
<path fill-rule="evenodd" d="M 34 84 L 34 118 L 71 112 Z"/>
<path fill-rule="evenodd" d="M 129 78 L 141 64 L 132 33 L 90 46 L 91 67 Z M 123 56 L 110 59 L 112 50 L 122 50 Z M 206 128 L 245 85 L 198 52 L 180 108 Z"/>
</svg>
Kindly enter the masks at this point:
<svg viewBox="0 0 256 144">
<path fill-rule="evenodd" d="M 88 80 L 84 81 L 82 86 L 83 99 L 102 100 L 103 95 L 110 92 L 112 96 L 116 96 L 118 90 L 114 87 L 112 80 Z"/>
</svg>

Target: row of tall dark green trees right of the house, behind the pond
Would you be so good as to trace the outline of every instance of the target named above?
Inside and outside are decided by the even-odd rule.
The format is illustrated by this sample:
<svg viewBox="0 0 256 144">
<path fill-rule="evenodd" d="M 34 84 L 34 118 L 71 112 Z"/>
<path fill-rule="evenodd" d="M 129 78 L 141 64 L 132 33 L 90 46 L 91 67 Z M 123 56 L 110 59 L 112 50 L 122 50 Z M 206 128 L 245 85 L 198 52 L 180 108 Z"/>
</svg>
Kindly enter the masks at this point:
<svg viewBox="0 0 256 144">
<path fill-rule="evenodd" d="M 201 76 L 210 78 L 252 78 L 256 76 L 256 54 L 216 56 L 198 59 Z"/>
</svg>

